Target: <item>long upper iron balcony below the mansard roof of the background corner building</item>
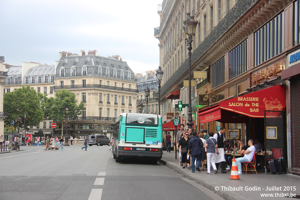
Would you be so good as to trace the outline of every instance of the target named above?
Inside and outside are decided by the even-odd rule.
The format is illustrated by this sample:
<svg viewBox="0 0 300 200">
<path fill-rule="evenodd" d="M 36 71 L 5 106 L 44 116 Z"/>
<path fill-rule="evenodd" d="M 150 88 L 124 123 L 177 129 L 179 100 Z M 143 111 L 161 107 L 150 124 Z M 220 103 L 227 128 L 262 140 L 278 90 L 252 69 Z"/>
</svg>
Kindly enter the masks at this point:
<svg viewBox="0 0 300 200">
<path fill-rule="evenodd" d="M 138 92 L 137 89 L 130 89 L 130 88 L 121 88 L 109 85 L 99 85 L 99 84 L 84 84 L 84 85 L 55 85 L 53 86 L 54 90 L 61 90 L 61 89 L 77 89 L 77 88 L 103 88 L 109 90 L 119 90 L 125 92 Z"/>
</svg>

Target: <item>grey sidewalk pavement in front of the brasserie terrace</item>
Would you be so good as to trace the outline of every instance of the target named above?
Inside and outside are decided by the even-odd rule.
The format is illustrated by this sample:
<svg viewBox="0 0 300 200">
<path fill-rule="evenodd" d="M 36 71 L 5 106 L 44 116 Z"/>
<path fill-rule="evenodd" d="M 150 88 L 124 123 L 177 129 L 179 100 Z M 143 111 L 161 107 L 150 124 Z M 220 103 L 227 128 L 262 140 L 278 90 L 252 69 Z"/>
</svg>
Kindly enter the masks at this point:
<svg viewBox="0 0 300 200">
<path fill-rule="evenodd" d="M 192 173 L 192 170 L 187 168 L 182 169 L 179 167 L 179 154 L 177 155 L 177 160 L 175 160 L 175 152 L 171 153 L 164 151 L 162 159 L 158 160 L 163 165 L 179 172 L 187 178 L 190 178 L 207 188 L 217 192 L 223 197 L 232 200 L 245 200 L 245 199 L 286 199 L 284 197 L 288 194 L 300 195 L 300 176 L 292 174 L 280 174 L 275 175 L 271 173 L 257 172 L 253 174 L 252 172 L 247 172 L 247 174 L 239 175 L 241 180 L 228 180 L 231 173 L 221 173 L 221 168 L 219 167 L 218 173 L 215 174 L 211 166 L 211 174 L 206 174 L 207 169 L 204 171 Z M 200 166 L 201 169 L 201 166 Z M 275 186 L 275 187 L 272 187 Z M 266 191 L 271 188 L 271 191 Z M 281 187 L 281 188 L 277 188 Z M 274 191 L 277 189 L 277 191 Z M 260 189 L 260 190 L 259 190 Z M 272 191 L 273 189 L 273 191 Z M 231 191 L 230 191 L 231 190 Z M 235 191 L 233 191 L 235 190 Z M 237 191 L 236 191 L 237 190 Z M 263 197 L 262 195 L 273 195 L 273 197 Z M 295 198 L 295 197 L 294 197 Z"/>
</svg>

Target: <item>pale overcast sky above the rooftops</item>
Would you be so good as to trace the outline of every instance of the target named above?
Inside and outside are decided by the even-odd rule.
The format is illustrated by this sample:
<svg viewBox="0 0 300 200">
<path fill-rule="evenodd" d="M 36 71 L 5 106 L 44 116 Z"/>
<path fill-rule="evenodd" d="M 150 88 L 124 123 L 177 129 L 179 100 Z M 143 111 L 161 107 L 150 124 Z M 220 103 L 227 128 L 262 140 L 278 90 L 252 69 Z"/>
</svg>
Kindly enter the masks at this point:
<svg viewBox="0 0 300 200">
<path fill-rule="evenodd" d="M 0 0 L 5 63 L 55 64 L 59 52 L 120 55 L 135 73 L 157 69 L 162 0 Z"/>
</svg>

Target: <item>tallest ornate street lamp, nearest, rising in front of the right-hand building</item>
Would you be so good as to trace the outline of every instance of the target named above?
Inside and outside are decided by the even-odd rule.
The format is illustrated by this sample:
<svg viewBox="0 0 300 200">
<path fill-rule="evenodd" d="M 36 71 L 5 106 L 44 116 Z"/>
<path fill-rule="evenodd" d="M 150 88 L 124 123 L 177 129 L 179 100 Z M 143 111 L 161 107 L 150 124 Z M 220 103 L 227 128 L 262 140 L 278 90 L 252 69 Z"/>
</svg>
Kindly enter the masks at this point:
<svg viewBox="0 0 300 200">
<path fill-rule="evenodd" d="M 193 119 L 192 119 L 192 94 L 191 94 L 191 55 L 192 55 L 192 42 L 193 42 L 193 36 L 196 33 L 196 28 L 198 21 L 194 20 L 194 16 L 190 16 L 190 12 L 186 13 L 187 17 L 183 21 L 183 29 L 184 29 L 184 35 L 185 39 L 188 41 L 188 128 L 192 128 L 194 125 Z"/>
</svg>

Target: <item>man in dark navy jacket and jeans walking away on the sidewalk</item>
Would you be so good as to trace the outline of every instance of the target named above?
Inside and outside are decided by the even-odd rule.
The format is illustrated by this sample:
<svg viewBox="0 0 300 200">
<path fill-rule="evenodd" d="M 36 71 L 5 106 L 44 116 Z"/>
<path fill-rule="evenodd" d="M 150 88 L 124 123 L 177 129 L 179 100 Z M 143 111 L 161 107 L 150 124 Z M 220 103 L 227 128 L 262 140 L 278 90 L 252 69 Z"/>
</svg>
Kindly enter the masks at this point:
<svg viewBox="0 0 300 200">
<path fill-rule="evenodd" d="M 203 142 L 202 140 L 197 136 L 197 133 L 194 131 L 192 132 L 192 139 L 189 140 L 188 144 L 188 154 L 191 152 L 192 156 L 192 172 L 195 172 L 195 160 L 196 158 L 198 159 L 197 165 L 196 165 L 196 170 L 201 172 L 200 170 L 200 162 L 202 160 L 202 154 L 201 154 L 201 148 L 203 147 Z"/>
</svg>

